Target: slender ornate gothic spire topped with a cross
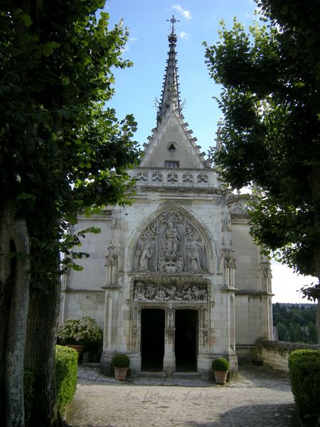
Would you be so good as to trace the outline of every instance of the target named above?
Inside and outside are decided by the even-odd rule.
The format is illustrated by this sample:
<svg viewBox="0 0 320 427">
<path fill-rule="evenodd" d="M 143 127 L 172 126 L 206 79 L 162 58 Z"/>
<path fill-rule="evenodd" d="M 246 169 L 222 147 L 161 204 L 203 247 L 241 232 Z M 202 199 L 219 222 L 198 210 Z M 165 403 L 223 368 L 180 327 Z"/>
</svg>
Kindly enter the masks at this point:
<svg viewBox="0 0 320 427">
<path fill-rule="evenodd" d="M 166 70 L 164 74 L 164 83 L 161 93 L 161 100 L 159 101 L 158 112 L 156 116 L 156 123 L 159 125 L 166 112 L 170 109 L 177 109 L 181 112 L 180 106 L 180 93 L 178 90 L 178 67 L 176 60 L 176 33 L 174 31 L 174 24 L 177 21 L 174 15 L 168 19 L 172 23 L 171 33 L 168 36 L 169 52 L 168 59 L 166 60 Z"/>
</svg>

